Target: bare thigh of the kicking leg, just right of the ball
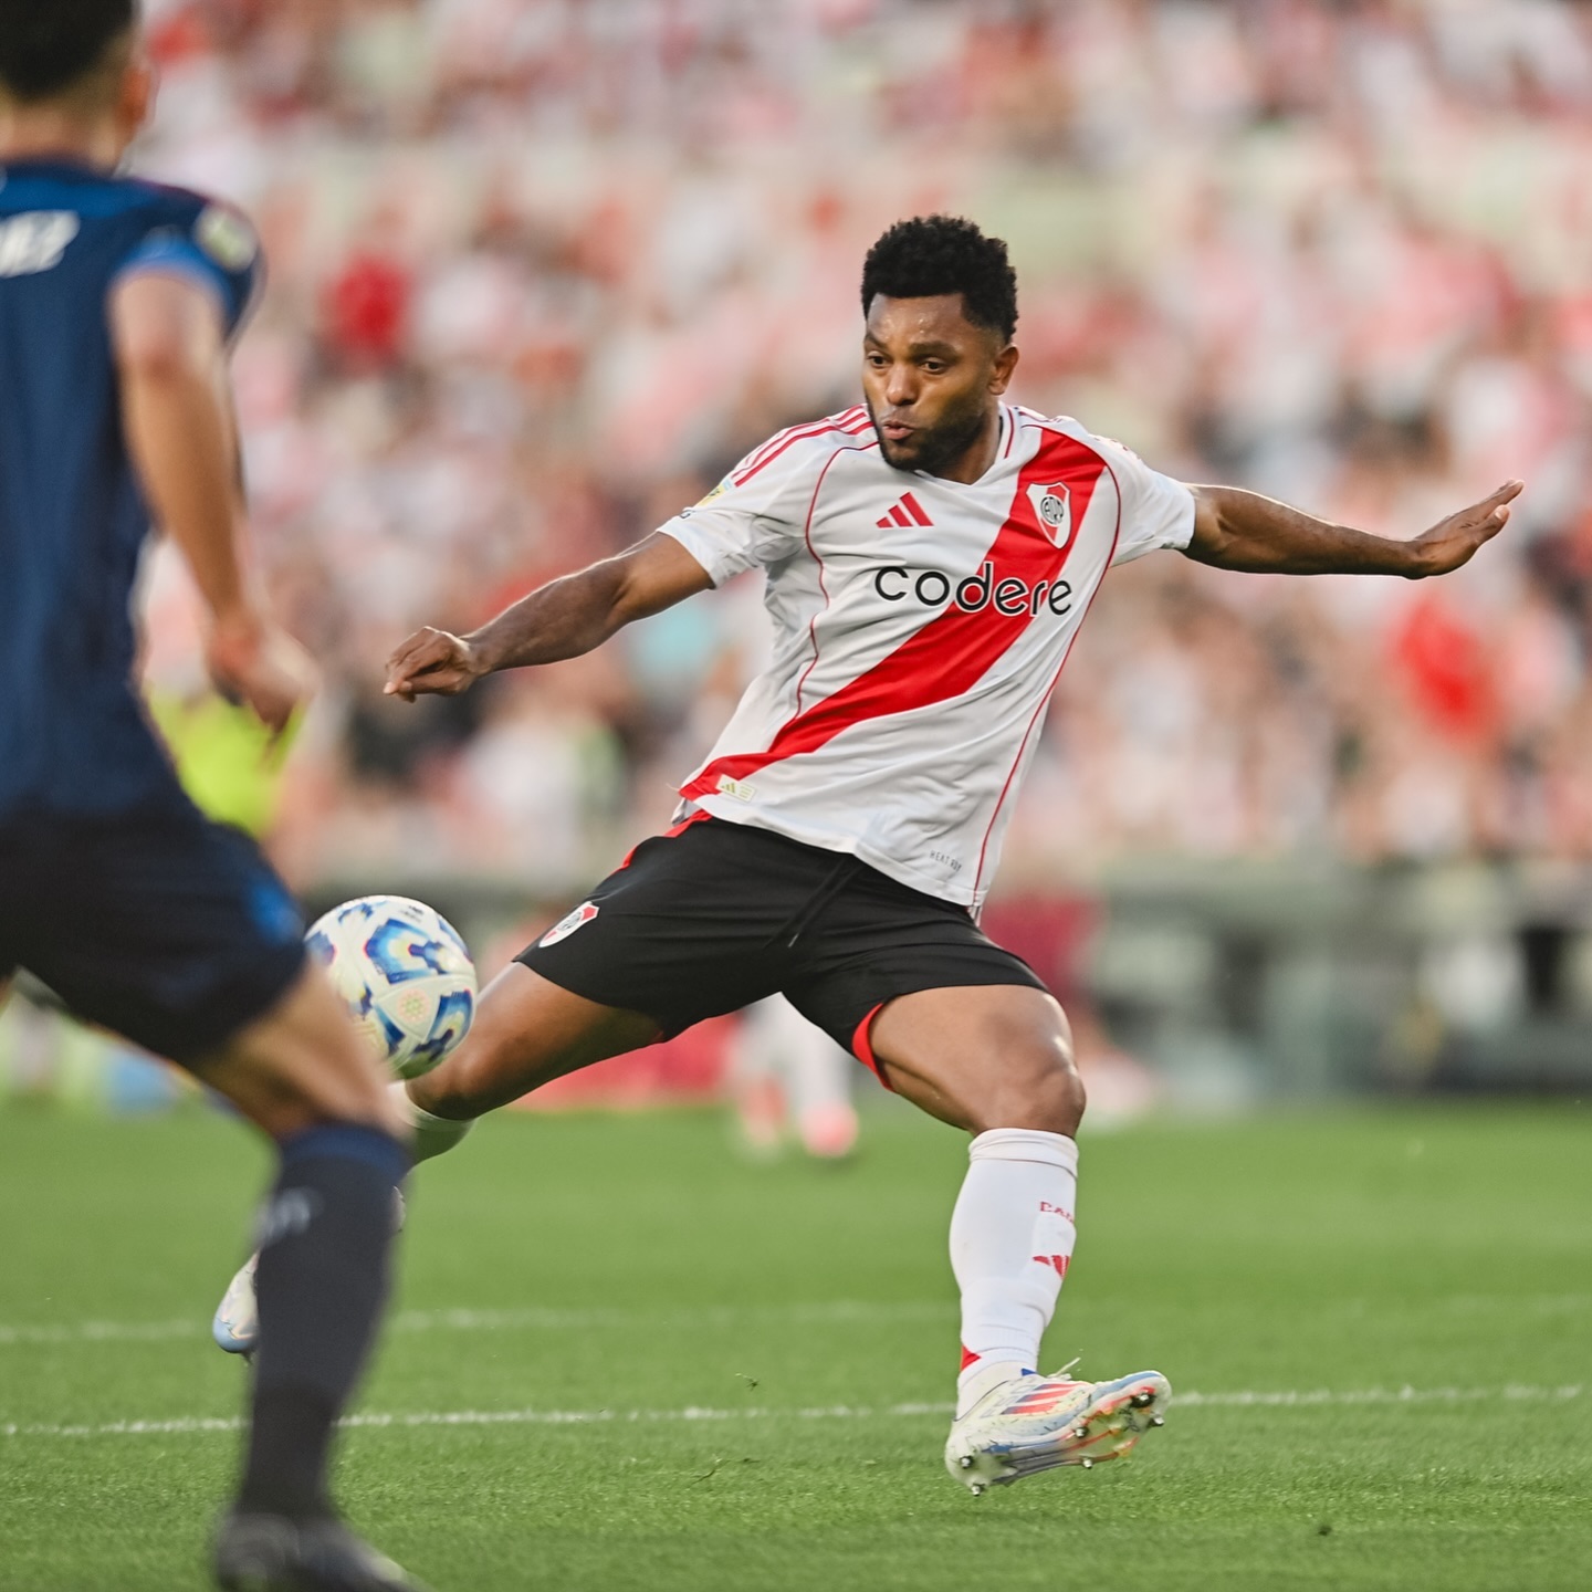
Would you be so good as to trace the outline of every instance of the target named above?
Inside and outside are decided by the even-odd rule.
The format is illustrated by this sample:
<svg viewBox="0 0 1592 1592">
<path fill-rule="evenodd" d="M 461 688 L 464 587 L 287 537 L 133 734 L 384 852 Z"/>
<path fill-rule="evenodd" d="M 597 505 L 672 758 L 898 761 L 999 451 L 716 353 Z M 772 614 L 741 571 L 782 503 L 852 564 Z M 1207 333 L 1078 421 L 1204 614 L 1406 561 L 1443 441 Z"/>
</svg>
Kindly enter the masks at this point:
<svg viewBox="0 0 1592 1592">
<path fill-rule="evenodd" d="M 416 1078 L 409 1097 L 435 1116 L 463 1119 L 659 1038 L 657 1019 L 605 1006 L 511 962 L 481 993 L 463 1044 Z"/>
</svg>

